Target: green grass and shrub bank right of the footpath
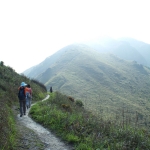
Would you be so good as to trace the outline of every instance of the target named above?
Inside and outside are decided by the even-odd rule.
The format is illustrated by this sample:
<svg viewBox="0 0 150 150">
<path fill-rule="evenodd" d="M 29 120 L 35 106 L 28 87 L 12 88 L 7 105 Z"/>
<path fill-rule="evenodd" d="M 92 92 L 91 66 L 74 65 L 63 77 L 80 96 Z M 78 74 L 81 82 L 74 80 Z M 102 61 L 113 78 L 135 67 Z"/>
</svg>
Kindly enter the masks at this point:
<svg viewBox="0 0 150 150">
<path fill-rule="evenodd" d="M 97 117 L 55 92 L 30 110 L 34 120 L 49 128 L 76 150 L 150 149 L 150 135 L 125 120 Z M 68 108 L 69 107 L 69 108 Z"/>
</svg>

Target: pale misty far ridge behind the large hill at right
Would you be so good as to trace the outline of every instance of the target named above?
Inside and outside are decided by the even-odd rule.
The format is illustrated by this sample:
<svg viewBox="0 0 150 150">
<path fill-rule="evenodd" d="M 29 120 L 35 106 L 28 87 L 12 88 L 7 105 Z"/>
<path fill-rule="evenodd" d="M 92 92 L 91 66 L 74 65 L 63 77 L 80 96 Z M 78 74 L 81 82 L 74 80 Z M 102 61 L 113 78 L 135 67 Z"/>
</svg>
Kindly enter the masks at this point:
<svg viewBox="0 0 150 150">
<path fill-rule="evenodd" d="M 111 53 L 116 56 L 150 67 L 150 44 L 132 38 L 103 37 L 86 41 L 84 44 L 103 53 Z"/>
</svg>

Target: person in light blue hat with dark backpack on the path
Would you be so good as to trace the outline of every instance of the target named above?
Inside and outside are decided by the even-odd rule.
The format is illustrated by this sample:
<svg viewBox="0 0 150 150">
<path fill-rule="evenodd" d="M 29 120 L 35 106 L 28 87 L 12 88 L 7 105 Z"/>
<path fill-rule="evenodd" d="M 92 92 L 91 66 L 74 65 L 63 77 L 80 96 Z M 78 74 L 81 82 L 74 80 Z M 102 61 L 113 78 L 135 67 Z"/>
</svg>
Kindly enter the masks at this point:
<svg viewBox="0 0 150 150">
<path fill-rule="evenodd" d="M 18 88 L 18 98 L 20 103 L 20 117 L 26 115 L 26 96 L 25 96 L 25 82 L 21 82 L 20 87 Z"/>
</svg>

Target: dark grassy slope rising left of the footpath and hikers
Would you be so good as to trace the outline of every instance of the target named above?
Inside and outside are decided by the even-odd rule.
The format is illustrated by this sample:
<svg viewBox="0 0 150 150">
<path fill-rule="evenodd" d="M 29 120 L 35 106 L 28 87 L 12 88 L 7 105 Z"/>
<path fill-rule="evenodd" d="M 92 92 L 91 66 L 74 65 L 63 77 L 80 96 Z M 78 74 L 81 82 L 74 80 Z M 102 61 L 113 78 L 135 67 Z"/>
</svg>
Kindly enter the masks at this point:
<svg viewBox="0 0 150 150">
<path fill-rule="evenodd" d="M 19 108 L 18 87 L 24 81 L 33 89 L 33 102 L 45 97 L 47 91 L 43 84 L 17 74 L 12 68 L 0 62 L 0 149 L 13 150 L 16 144 L 16 122 L 13 110 Z M 12 109 L 13 108 L 13 109 Z M 18 111 L 19 113 L 19 111 Z"/>
</svg>

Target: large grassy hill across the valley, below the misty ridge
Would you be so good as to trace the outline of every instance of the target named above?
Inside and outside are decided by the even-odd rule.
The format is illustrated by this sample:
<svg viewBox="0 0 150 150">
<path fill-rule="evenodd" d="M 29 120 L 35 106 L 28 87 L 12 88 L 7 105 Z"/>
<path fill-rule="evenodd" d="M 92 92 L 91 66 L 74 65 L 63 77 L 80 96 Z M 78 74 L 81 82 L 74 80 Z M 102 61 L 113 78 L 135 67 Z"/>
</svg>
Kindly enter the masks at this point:
<svg viewBox="0 0 150 150">
<path fill-rule="evenodd" d="M 55 91 L 81 99 L 95 112 L 110 115 L 126 108 L 131 114 L 138 111 L 141 118 L 149 113 L 149 68 L 86 45 L 70 45 L 63 50 L 59 59 L 36 78 L 47 89 L 52 86 Z"/>
</svg>

